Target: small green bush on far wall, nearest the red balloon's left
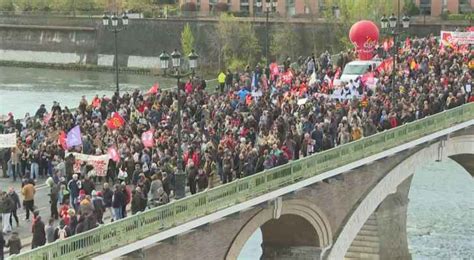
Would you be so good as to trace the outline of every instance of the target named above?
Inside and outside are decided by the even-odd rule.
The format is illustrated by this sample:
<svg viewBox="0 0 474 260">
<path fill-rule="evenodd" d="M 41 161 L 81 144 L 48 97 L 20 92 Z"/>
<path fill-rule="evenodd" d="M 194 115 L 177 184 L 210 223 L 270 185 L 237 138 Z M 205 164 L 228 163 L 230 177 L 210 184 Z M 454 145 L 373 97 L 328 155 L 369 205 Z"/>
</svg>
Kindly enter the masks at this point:
<svg viewBox="0 0 474 260">
<path fill-rule="evenodd" d="M 273 37 L 270 44 L 270 53 L 278 60 L 286 57 L 295 57 L 298 55 L 299 43 L 301 37 L 298 35 L 291 23 L 284 23 L 272 33 Z"/>
</svg>

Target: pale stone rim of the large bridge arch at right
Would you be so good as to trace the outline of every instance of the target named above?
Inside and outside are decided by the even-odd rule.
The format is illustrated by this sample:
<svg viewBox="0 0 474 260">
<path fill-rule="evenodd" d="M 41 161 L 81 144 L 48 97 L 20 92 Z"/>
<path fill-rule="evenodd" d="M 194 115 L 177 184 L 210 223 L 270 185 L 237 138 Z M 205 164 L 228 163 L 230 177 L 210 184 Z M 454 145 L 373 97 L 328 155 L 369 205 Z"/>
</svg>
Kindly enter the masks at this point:
<svg viewBox="0 0 474 260">
<path fill-rule="evenodd" d="M 442 149 L 440 148 L 442 147 Z M 397 187 L 410 178 L 417 166 L 422 161 L 435 161 L 441 158 L 453 158 L 456 162 L 468 168 L 469 158 L 474 156 L 474 135 L 455 136 L 446 141 L 439 141 L 421 149 L 409 156 L 393 168 L 378 184 L 367 194 L 341 229 L 334 245 L 328 250 L 327 259 L 344 259 L 364 223 L 377 207 L 389 195 L 397 191 Z M 441 157 L 441 158 L 440 158 Z M 466 159 L 467 158 L 467 159 Z"/>
</svg>

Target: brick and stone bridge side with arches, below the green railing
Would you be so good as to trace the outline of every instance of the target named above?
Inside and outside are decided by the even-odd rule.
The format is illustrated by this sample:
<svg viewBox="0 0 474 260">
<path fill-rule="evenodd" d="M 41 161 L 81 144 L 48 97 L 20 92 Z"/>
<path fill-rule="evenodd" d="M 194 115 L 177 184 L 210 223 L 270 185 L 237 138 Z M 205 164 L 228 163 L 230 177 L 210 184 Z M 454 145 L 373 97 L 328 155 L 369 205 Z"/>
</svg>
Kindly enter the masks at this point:
<svg viewBox="0 0 474 260">
<path fill-rule="evenodd" d="M 143 259 L 237 259 L 261 228 L 262 259 L 411 259 L 406 213 L 421 163 L 474 175 L 474 127 L 372 161 L 140 250 Z M 449 172 L 446 172 L 449 174 Z M 137 253 L 126 258 L 136 258 Z"/>
</svg>

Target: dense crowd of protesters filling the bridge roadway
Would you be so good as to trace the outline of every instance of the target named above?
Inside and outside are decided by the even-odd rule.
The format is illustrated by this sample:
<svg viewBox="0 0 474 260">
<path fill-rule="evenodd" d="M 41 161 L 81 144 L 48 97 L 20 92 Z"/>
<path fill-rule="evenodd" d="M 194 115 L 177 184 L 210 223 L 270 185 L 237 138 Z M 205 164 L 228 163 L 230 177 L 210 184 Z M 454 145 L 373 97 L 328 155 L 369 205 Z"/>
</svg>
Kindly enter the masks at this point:
<svg viewBox="0 0 474 260">
<path fill-rule="evenodd" d="M 372 68 L 378 79 L 374 86 L 361 79 L 335 86 L 338 67 L 351 59 L 352 52 L 339 61 L 323 53 L 294 62 L 288 58 L 277 72 L 259 66 L 228 70 L 219 76 L 217 92 L 207 91 L 201 80 L 183 84 L 182 166 L 189 191 L 200 192 L 474 101 L 474 52 L 440 48 L 434 37 L 410 40 L 410 48 L 398 57 L 394 84 L 390 75 Z M 337 88 L 351 98 L 332 97 Z M 127 216 L 127 205 L 135 214 L 173 198 L 177 99 L 176 90 L 137 90 L 92 101 L 83 97 L 75 110 L 55 102 L 47 111 L 42 105 L 22 121 L 10 116 L 0 132 L 16 131 L 18 145 L 3 153 L 4 175 L 8 169 L 12 179 L 24 179 L 27 218 L 30 210 L 35 212 L 34 180 L 49 177 L 51 218 L 60 219 L 59 227 L 48 222 L 45 229 L 34 213 L 33 247 L 95 228 L 105 212 L 118 220 Z M 52 117 L 45 123 L 48 112 Z M 112 112 L 120 114 L 124 126 L 107 127 Z M 97 176 L 87 164 L 75 171 L 74 157 L 65 156 L 59 131 L 77 125 L 82 145 L 71 150 L 102 155 L 115 147 L 119 153 L 118 161 L 109 161 L 105 176 Z M 150 129 L 155 144 L 145 147 L 140 137 Z M 2 196 L 10 198 L 8 194 Z M 17 199 L 0 202 L 2 213 L 19 207 Z M 8 226 L 3 231 L 8 232 Z"/>
</svg>

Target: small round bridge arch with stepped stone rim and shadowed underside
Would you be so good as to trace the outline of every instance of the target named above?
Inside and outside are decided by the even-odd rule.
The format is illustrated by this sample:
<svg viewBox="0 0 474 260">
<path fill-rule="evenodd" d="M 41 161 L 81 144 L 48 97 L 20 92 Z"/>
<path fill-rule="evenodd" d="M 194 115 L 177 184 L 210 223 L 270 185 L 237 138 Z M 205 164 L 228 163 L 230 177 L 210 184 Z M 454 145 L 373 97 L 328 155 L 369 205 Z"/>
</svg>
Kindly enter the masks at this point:
<svg viewBox="0 0 474 260">
<path fill-rule="evenodd" d="M 288 246 L 289 243 L 324 251 L 331 245 L 333 237 L 329 220 L 314 203 L 300 199 L 284 200 L 279 218 L 274 218 L 274 211 L 274 207 L 267 207 L 249 219 L 233 239 L 225 259 L 237 259 L 258 228 L 262 228 L 263 244 L 266 246 L 278 247 L 280 243 Z M 298 230 L 305 232 L 298 233 Z"/>
</svg>

